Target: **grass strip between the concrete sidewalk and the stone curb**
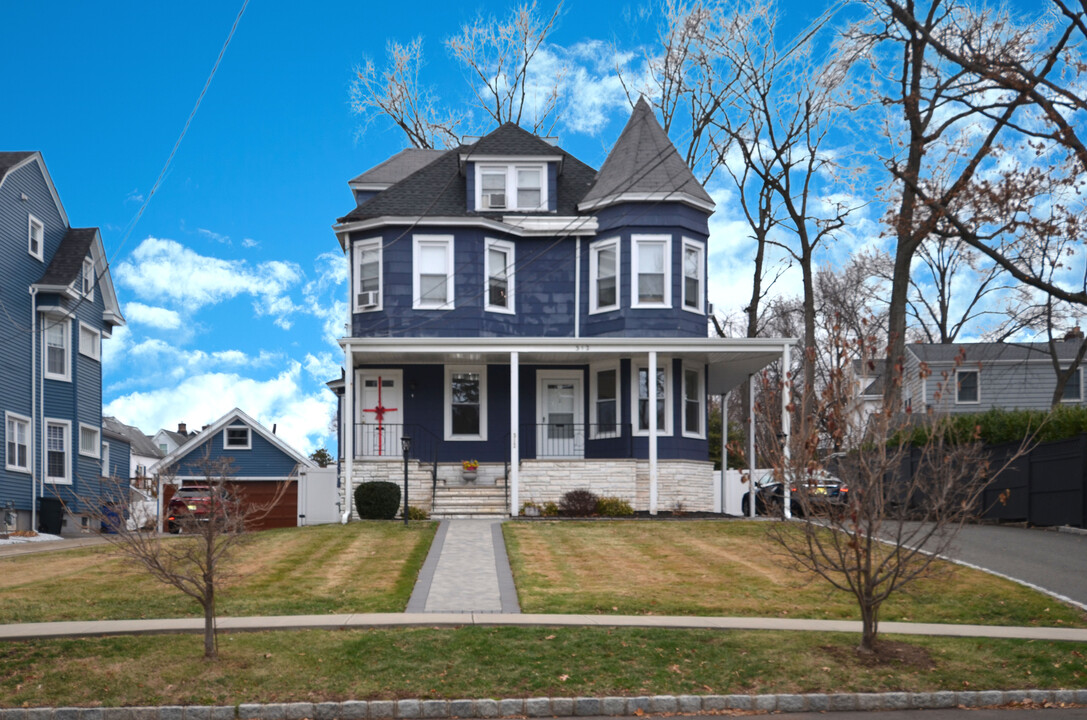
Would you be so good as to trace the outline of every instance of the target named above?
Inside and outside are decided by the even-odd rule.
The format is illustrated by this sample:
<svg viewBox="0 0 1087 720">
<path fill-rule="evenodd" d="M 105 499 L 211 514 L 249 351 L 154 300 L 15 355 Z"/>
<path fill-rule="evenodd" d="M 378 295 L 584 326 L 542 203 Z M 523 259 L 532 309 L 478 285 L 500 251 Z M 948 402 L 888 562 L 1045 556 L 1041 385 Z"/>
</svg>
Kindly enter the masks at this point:
<svg viewBox="0 0 1087 720">
<path fill-rule="evenodd" d="M 237 633 L 5 643 L 0 705 L 124 706 L 1083 687 L 1083 645 L 603 628 Z"/>
</svg>

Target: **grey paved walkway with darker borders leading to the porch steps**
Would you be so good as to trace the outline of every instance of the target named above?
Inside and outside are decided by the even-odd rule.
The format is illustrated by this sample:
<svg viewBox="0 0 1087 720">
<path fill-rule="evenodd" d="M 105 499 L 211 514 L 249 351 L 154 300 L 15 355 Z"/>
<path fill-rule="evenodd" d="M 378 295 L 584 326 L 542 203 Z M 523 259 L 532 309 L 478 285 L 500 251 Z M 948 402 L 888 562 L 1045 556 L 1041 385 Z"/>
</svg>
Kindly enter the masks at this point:
<svg viewBox="0 0 1087 720">
<path fill-rule="evenodd" d="M 443 520 L 408 612 L 520 612 L 500 520 Z"/>
</svg>

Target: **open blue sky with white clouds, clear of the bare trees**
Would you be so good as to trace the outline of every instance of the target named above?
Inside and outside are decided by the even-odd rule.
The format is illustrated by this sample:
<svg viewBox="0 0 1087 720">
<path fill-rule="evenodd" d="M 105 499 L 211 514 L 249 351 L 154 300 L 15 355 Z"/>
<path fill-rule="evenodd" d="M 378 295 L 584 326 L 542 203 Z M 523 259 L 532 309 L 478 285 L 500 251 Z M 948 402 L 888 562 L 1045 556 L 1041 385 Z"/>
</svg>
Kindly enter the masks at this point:
<svg viewBox="0 0 1087 720">
<path fill-rule="evenodd" d="M 335 443 L 324 381 L 339 374 L 347 290 L 330 225 L 351 209 L 347 181 L 403 147 L 379 121 L 360 137 L 352 67 L 364 55 L 380 65 L 387 39 L 422 35 L 427 80 L 463 105 L 467 86 L 442 40 L 511 4 L 253 0 L 126 237 L 240 4 L 3 3 L 0 149 L 40 150 L 72 223 L 102 231 L 128 320 L 105 343 L 108 414 L 153 434 L 240 406 L 309 452 Z M 786 29 L 823 9 L 785 7 Z M 578 97 L 596 103 L 569 112 L 558 133 L 594 166 L 628 113 L 607 44 L 640 57 L 654 8 L 567 2 L 551 38 L 579 70 Z M 732 234 L 728 213 L 721 223 Z M 719 262 L 737 257 L 722 255 L 724 241 L 714 239 Z M 711 296 L 738 302 L 720 284 Z"/>
</svg>

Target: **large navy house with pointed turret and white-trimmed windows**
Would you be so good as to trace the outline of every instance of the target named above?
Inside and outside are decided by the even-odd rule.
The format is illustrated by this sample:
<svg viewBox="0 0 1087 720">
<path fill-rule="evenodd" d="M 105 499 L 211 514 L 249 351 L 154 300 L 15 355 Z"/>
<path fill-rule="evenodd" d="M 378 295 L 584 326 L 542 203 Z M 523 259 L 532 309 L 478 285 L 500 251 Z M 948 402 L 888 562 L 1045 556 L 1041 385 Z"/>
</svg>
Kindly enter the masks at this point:
<svg viewBox="0 0 1087 720">
<path fill-rule="evenodd" d="M 477 460 L 512 513 L 578 487 L 713 509 L 707 396 L 787 342 L 708 337 L 714 203 L 645 100 L 599 172 L 507 124 L 349 185 L 348 493 L 400 482 L 408 436 L 413 505 Z"/>
</svg>

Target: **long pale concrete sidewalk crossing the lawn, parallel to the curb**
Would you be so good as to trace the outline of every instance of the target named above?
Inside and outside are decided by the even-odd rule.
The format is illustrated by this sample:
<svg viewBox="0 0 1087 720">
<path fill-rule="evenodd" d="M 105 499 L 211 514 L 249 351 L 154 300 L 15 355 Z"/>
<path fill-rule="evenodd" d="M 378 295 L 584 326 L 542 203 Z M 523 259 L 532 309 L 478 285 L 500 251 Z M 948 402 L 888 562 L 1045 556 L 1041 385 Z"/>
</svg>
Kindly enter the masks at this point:
<svg viewBox="0 0 1087 720">
<path fill-rule="evenodd" d="M 497 612 L 371 612 L 357 615 L 218 618 L 218 630 L 350 630 L 370 628 L 455 628 L 461 625 L 518 628 L 687 628 L 703 630 L 779 630 L 860 633 L 860 621 L 785 618 L 699 618 L 630 615 L 503 615 Z M 90 635 L 147 635 L 203 632 L 202 618 L 158 620 L 97 620 L 26 622 L 0 625 L 0 641 Z M 880 622 L 880 634 L 944 637 L 1001 637 L 1087 643 L 1087 629 L 954 625 L 924 622 Z"/>
</svg>

